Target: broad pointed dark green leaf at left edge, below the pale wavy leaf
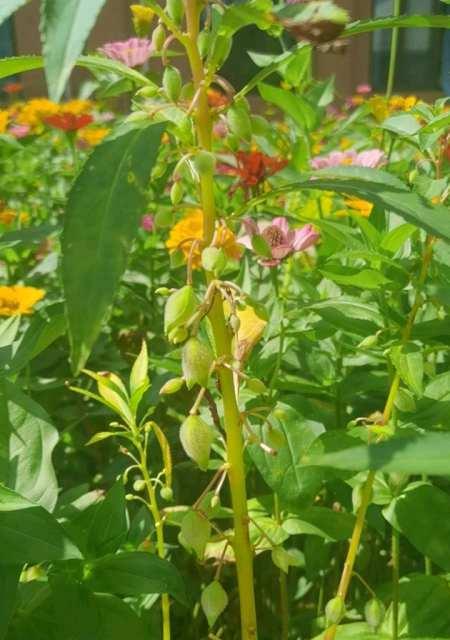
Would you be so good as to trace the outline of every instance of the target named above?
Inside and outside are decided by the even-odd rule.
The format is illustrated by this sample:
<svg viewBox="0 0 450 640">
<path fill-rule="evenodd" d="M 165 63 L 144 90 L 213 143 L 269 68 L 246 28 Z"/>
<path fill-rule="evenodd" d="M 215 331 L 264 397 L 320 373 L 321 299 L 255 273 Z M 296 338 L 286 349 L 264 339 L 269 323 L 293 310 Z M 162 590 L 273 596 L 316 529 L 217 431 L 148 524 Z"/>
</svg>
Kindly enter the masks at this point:
<svg viewBox="0 0 450 640">
<path fill-rule="evenodd" d="M 81 558 L 58 521 L 11 489 L 0 486 L 0 564 L 39 564 Z"/>
</svg>

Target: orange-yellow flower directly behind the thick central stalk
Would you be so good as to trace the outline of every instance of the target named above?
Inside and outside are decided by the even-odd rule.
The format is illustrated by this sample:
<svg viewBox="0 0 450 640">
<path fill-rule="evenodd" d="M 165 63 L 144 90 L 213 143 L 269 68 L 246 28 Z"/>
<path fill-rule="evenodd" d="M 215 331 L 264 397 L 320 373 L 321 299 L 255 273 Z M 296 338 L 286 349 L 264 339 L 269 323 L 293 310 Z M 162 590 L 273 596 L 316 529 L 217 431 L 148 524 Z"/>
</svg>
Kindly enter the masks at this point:
<svg viewBox="0 0 450 640">
<path fill-rule="evenodd" d="M 201 264 L 201 243 L 203 241 L 203 212 L 201 209 L 191 209 L 170 230 L 166 247 L 170 252 L 180 249 L 186 260 L 191 254 L 192 243 L 197 241 L 192 251 L 192 267 L 198 269 Z M 236 236 L 225 225 L 220 225 L 215 233 L 214 244 L 222 247 L 225 253 L 235 260 L 242 255 L 242 247 L 237 244 Z"/>
</svg>

